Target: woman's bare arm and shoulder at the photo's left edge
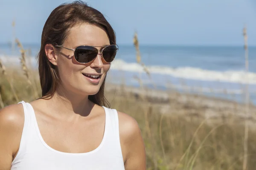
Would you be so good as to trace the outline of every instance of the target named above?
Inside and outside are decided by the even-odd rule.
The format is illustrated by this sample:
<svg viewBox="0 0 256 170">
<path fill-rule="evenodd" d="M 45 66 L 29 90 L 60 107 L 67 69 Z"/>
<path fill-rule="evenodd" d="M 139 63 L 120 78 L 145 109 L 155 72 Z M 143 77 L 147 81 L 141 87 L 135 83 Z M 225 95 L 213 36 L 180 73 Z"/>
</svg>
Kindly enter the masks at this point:
<svg viewBox="0 0 256 170">
<path fill-rule="evenodd" d="M 10 170 L 20 145 L 24 125 L 21 104 L 0 110 L 0 170 Z"/>
</svg>

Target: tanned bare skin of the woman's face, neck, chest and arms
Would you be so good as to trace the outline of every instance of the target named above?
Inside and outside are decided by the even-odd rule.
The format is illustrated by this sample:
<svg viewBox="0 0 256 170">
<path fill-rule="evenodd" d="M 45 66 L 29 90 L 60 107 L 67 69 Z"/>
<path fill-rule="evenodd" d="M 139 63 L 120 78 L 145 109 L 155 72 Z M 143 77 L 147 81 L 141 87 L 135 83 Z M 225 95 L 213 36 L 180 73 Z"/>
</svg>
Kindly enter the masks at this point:
<svg viewBox="0 0 256 170">
<path fill-rule="evenodd" d="M 70 29 L 63 46 L 74 49 L 79 45 L 109 44 L 102 28 L 82 24 Z M 79 64 L 73 57 L 73 51 L 61 48 L 58 52 L 52 45 L 46 45 L 45 52 L 49 61 L 58 66 L 61 86 L 52 99 L 38 99 L 30 103 L 43 139 L 50 147 L 61 152 L 85 153 L 94 150 L 102 141 L 105 111 L 90 102 L 88 95 L 99 91 L 110 64 L 100 54 L 88 64 Z M 98 73 L 102 77 L 95 85 L 82 73 Z M 131 116 L 122 112 L 118 112 L 118 116 L 125 170 L 145 170 L 145 147 L 140 128 Z M 0 170 L 10 170 L 19 149 L 23 125 L 21 104 L 0 110 Z"/>
</svg>

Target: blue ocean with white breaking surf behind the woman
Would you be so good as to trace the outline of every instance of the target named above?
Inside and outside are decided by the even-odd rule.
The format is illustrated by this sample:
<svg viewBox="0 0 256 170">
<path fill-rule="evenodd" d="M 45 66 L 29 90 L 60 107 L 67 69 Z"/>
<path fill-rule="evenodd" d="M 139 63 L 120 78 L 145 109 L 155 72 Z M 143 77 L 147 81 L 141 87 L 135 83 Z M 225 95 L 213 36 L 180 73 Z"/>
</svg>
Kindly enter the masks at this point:
<svg viewBox="0 0 256 170">
<path fill-rule="evenodd" d="M 30 49 L 32 65 L 39 45 L 24 45 Z M 244 101 L 244 90 L 248 82 L 250 101 L 256 104 L 256 47 L 249 47 L 249 72 L 245 71 L 244 47 L 232 46 L 168 46 L 141 45 L 141 62 L 136 62 L 133 45 L 119 45 L 119 51 L 111 65 L 107 81 L 139 86 L 138 78 L 148 88 L 175 88 L 180 92 Z M 0 45 L 3 62 L 19 64 L 18 48 L 12 51 L 8 44 Z M 248 79 L 247 79 L 248 77 Z"/>
</svg>

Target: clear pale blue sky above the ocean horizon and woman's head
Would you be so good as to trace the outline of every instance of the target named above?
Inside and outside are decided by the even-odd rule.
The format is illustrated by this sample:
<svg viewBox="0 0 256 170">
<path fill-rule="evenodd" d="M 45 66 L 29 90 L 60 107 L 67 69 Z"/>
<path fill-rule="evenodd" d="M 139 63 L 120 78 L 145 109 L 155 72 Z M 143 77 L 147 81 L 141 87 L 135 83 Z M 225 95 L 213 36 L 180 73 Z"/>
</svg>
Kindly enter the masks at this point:
<svg viewBox="0 0 256 170">
<path fill-rule="evenodd" d="M 0 43 L 16 37 L 40 44 L 50 12 L 64 0 L 0 0 Z M 253 0 L 88 0 L 101 11 L 117 35 L 132 44 L 137 30 L 141 45 L 243 45 L 242 28 L 256 45 L 256 3 Z"/>
</svg>

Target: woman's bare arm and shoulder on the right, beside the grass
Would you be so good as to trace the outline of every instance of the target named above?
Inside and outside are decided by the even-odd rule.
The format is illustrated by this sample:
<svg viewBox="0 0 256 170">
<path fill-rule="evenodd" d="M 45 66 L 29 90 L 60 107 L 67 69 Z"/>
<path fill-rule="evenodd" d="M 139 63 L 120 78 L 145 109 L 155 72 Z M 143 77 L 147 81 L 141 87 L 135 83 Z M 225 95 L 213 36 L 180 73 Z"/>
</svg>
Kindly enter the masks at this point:
<svg viewBox="0 0 256 170">
<path fill-rule="evenodd" d="M 119 112 L 119 133 L 125 170 L 146 170 L 145 146 L 136 120 Z"/>
</svg>

